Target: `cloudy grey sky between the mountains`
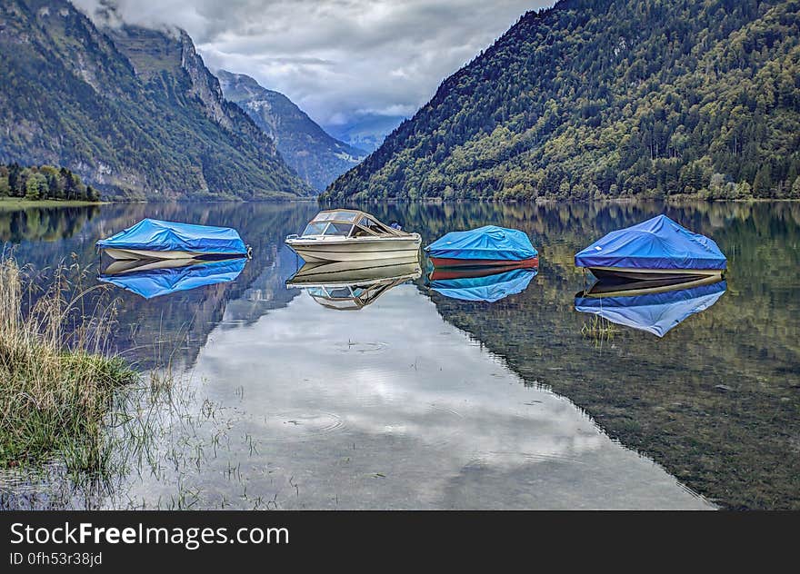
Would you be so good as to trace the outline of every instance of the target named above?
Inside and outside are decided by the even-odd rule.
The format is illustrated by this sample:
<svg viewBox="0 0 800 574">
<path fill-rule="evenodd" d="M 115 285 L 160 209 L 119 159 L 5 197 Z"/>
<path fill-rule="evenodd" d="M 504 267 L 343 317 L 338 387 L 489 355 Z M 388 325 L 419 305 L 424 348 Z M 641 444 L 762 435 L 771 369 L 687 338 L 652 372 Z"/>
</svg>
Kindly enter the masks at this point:
<svg viewBox="0 0 800 574">
<path fill-rule="evenodd" d="M 101 1 L 74 0 L 92 13 Z M 177 25 L 212 69 L 248 74 L 320 124 L 411 115 L 527 10 L 553 0 L 110 0 Z"/>
</svg>

